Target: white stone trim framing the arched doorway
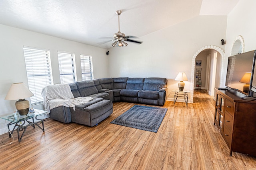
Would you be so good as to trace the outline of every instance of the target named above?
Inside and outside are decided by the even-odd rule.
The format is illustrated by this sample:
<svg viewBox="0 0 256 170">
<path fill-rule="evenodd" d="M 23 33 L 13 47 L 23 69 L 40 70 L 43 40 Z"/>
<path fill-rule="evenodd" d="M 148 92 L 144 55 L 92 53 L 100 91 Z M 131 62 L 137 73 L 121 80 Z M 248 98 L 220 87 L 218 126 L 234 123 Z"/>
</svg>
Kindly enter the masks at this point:
<svg viewBox="0 0 256 170">
<path fill-rule="evenodd" d="M 216 45 L 208 45 L 200 48 L 194 56 L 192 57 L 192 67 L 191 67 L 191 84 L 190 84 L 190 102 L 193 103 L 194 98 L 194 74 L 195 74 L 195 63 L 196 63 L 196 56 L 206 49 L 214 49 L 218 51 L 221 55 L 221 70 L 220 70 L 220 80 L 223 79 L 223 66 L 224 66 L 224 50 L 220 47 L 217 47 Z M 220 86 L 222 86 L 222 81 L 220 81 Z"/>
</svg>

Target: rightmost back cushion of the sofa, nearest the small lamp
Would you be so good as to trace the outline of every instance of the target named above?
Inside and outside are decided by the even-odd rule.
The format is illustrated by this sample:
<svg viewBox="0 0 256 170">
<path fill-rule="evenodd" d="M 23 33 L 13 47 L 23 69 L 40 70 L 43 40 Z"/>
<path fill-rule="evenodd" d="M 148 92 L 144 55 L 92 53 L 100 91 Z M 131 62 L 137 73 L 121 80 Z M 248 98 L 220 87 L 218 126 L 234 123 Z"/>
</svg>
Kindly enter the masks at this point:
<svg viewBox="0 0 256 170">
<path fill-rule="evenodd" d="M 167 83 L 166 78 L 145 78 L 143 90 L 158 91 L 161 88 L 165 88 Z"/>
</svg>

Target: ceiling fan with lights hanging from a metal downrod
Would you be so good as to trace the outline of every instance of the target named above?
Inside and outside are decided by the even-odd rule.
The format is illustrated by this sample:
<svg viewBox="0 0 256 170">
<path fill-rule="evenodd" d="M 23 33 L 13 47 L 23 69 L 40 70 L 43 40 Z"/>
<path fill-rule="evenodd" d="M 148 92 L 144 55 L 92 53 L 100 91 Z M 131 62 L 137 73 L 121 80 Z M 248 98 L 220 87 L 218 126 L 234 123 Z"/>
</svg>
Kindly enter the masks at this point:
<svg viewBox="0 0 256 170">
<path fill-rule="evenodd" d="M 119 47 L 122 47 L 122 46 L 126 47 L 128 44 L 125 41 L 130 41 L 132 43 L 139 43 L 139 44 L 141 44 L 142 41 L 135 41 L 135 40 L 129 39 L 129 38 L 137 38 L 137 37 L 135 37 L 135 36 L 125 36 L 124 33 L 120 32 L 120 19 L 119 19 L 119 16 L 120 16 L 121 13 L 122 13 L 121 10 L 117 10 L 116 11 L 116 15 L 118 15 L 118 32 L 114 33 L 114 35 L 113 35 L 114 39 L 109 40 L 109 41 L 115 41 L 114 43 L 112 43 L 112 46 L 115 47 L 115 45 L 118 43 Z M 112 37 L 106 37 L 106 38 L 112 38 Z M 102 42 L 100 44 L 104 44 L 104 43 L 107 43 L 109 41 L 104 41 L 104 42 Z"/>
</svg>

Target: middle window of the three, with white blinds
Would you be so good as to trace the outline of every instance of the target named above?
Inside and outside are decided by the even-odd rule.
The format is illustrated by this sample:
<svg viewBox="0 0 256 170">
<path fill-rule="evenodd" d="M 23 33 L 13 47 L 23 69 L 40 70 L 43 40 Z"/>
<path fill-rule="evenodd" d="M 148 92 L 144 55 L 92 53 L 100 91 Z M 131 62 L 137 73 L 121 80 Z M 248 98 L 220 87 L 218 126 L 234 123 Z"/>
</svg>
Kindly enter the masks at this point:
<svg viewBox="0 0 256 170">
<path fill-rule="evenodd" d="M 58 51 L 58 60 L 60 68 L 60 82 L 72 83 L 76 81 L 75 54 Z"/>
</svg>

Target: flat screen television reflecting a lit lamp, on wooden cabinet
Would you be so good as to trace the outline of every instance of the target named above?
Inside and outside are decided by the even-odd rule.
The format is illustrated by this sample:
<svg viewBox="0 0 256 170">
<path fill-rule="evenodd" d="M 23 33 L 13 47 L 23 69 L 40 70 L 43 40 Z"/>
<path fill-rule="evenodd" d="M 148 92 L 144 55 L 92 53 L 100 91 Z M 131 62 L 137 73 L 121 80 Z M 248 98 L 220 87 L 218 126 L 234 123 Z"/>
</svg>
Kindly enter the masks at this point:
<svg viewBox="0 0 256 170">
<path fill-rule="evenodd" d="M 228 57 L 225 84 L 227 87 L 253 98 L 256 97 L 256 93 L 254 93 L 256 92 L 255 57 L 255 50 Z"/>
</svg>

